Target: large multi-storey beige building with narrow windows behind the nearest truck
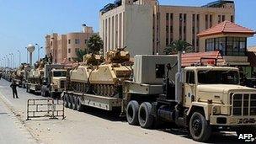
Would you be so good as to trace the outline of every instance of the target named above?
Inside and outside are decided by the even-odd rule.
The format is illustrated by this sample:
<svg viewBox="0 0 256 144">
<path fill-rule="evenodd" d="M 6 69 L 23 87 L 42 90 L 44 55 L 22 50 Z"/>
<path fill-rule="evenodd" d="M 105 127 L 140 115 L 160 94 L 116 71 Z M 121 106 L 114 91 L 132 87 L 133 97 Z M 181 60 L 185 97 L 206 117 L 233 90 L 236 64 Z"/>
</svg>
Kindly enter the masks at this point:
<svg viewBox="0 0 256 144">
<path fill-rule="evenodd" d="M 202 7 L 159 5 L 157 0 L 118 0 L 100 10 L 104 51 L 127 46 L 136 54 L 162 54 L 173 40 L 186 40 L 199 51 L 196 36 L 225 20 L 235 20 L 232 1 Z"/>
</svg>

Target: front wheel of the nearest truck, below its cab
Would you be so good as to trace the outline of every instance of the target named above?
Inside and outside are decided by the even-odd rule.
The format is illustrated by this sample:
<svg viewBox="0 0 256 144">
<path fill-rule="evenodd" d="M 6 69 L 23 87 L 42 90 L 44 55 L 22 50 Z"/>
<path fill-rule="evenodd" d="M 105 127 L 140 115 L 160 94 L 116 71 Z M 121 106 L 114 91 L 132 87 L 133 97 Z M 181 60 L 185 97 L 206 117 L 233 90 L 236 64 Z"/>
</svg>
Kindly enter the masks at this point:
<svg viewBox="0 0 256 144">
<path fill-rule="evenodd" d="M 195 112 L 189 120 L 189 133 L 195 141 L 207 141 L 211 136 L 211 125 L 201 113 Z"/>
</svg>

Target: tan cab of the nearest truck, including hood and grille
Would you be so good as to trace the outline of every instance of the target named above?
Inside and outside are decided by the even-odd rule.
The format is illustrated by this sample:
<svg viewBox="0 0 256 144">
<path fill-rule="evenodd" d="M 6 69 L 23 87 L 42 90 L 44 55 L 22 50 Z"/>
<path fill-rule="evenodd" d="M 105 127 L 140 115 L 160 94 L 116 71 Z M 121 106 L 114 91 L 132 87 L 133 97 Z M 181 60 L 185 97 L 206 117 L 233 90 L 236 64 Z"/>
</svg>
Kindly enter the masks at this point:
<svg viewBox="0 0 256 144">
<path fill-rule="evenodd" d="M 193 116 L 195 113 L 204 117 L 211 130 L 242 132 L 256 125 L 256 89 L 240 85 L 238 68 L 185 67 L 183 76 L 182 103 L 193 138 L 202 126 L 202 121 Z M 211 131 L 207 127 L 206 130 Z"/>
</svg>

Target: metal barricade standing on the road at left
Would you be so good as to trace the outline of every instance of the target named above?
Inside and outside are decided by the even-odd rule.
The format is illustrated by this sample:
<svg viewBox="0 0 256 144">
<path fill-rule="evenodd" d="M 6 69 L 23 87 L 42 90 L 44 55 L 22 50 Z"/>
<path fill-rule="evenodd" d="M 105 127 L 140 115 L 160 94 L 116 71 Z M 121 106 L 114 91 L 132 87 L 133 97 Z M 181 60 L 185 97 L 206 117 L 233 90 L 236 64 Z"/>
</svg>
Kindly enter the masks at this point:
<svg viewBox="0 0 256 144">
<path fill-rule="evenodd" d="M 65 119 L 64 102 L 59 99 L 28 99 L 27 104 L 27 120 L 31 118 L 49 117 L 57 119 L 61 117 Z"/>
</svg>

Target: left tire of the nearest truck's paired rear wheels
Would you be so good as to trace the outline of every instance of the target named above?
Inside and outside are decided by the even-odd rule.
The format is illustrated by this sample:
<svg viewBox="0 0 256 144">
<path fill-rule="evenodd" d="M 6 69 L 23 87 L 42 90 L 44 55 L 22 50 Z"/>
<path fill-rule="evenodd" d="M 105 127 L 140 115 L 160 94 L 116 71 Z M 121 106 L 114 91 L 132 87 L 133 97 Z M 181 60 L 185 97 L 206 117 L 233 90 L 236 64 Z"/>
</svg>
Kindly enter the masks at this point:
<svg viewBox="0 0 256 144">
<path fill-rule="evenodd" d="M 138 110 L 139 110 L 139 104 L 137 101 L 132 100 L 127 105 L 126 109 L 126 120 L 130 125 L 138 125 Z"/>
</svg>

